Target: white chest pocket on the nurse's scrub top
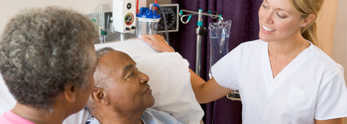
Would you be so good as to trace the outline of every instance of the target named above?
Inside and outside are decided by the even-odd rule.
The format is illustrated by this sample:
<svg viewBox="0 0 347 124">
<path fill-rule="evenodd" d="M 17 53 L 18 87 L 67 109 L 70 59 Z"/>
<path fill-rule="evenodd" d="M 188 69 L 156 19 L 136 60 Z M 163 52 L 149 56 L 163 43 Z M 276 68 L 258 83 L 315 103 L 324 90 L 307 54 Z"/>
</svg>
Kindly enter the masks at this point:
<svg viewBox="0 0 347 124">
<path fill-rule="evenodd" d="M 314 93 L 296 87 L 291 87 L 287 103 L 295 111 L 307 109 L 311 106 Z"/>
</svg>

